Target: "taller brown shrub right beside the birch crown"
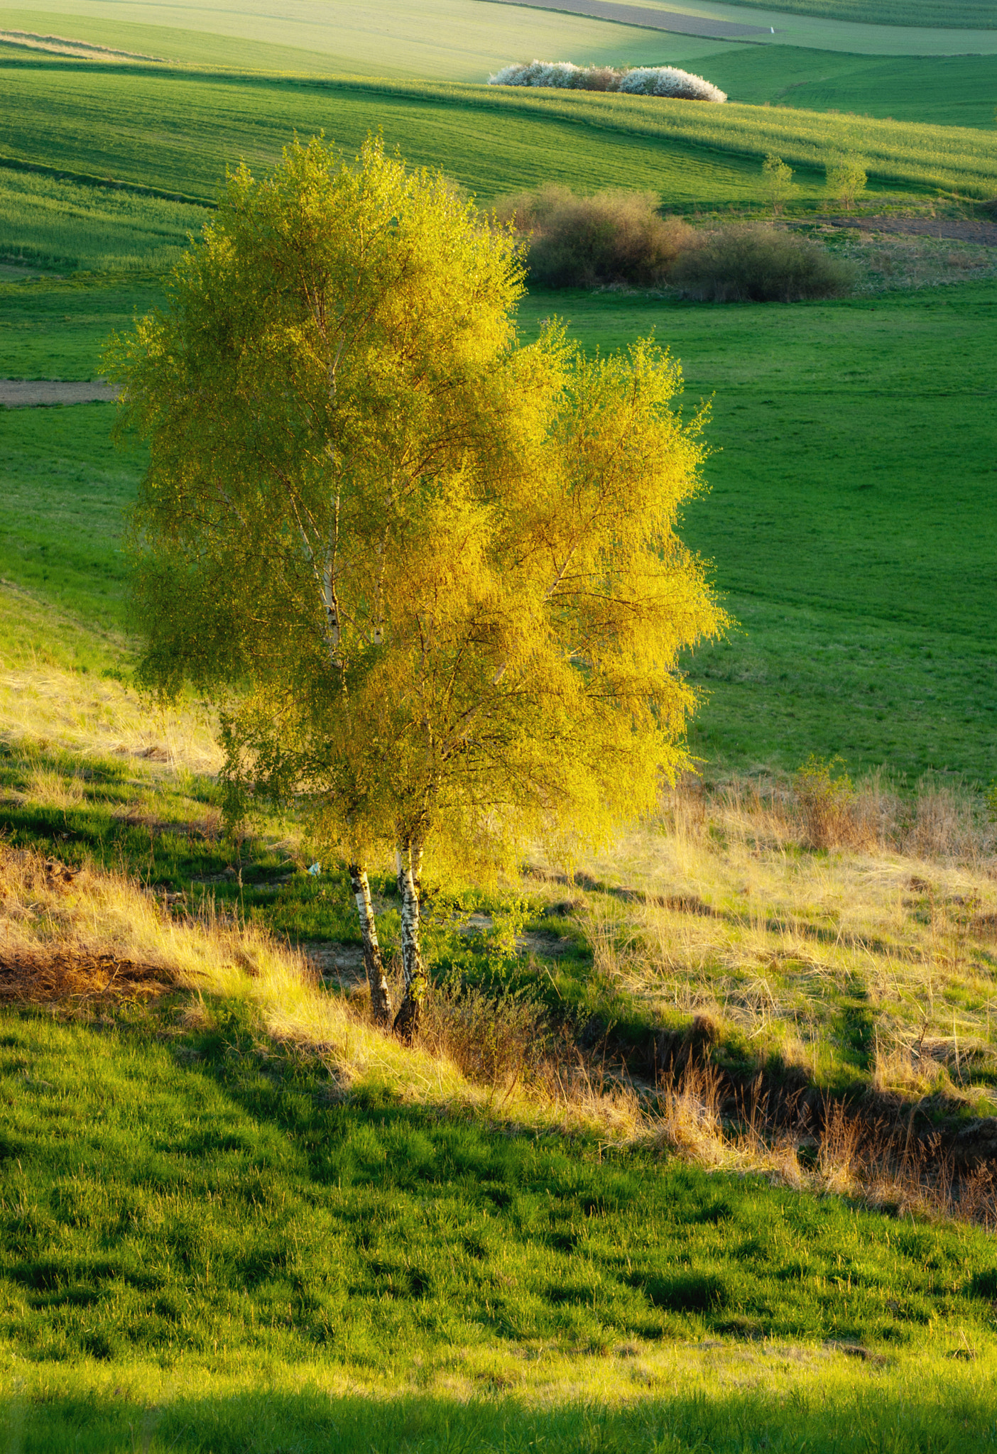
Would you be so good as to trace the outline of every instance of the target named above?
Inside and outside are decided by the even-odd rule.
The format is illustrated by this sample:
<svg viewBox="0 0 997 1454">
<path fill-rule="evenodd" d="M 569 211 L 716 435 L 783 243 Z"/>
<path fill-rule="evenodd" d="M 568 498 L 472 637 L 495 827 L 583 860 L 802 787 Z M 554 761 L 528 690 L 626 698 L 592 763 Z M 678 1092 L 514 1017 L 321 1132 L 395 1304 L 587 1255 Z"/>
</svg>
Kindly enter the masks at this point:
<svg viewBox="0 0 997 1454">
<path fill-rule="evenodd" d="M 529 273 L 552 288 L 592 288 L 666 281 L 696 233 L 661 217 L 653 192 L 576 196 L 554 183 L 496 204 L 498 221 L 529 237 Z"/>
</svg>

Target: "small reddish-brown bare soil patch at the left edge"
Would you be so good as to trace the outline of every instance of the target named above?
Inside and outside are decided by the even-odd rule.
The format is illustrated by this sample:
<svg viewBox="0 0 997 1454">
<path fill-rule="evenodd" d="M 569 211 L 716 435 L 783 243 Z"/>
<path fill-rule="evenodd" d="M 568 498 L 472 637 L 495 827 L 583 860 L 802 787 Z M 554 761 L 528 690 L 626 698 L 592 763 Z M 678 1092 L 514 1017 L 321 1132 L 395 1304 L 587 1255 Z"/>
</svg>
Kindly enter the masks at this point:
<svg viewBox="0 0 997 1454">
<path fill-rule="evenodd" d="M 118 960 L 112 954 L 65 949 L 52 954 L 0 954 L 0 1003 L 150 999 L 167 989 L 169 970 Z"/>
</svg>

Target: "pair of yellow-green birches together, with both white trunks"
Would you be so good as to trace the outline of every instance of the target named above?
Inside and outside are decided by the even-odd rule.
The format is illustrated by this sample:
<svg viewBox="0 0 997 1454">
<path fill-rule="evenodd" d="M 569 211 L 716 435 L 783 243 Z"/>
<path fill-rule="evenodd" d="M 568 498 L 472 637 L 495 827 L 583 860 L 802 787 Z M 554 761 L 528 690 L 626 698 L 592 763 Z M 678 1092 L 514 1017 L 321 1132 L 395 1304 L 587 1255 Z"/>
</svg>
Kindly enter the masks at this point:
<svg viewBox="0 0 997 1454">
<path fill-rule="evenodd" d="M 166 311 L 112 352 L 150 441 L 144 679 L 219 705 L 230 816 L 265 794 L 342 852 L 375 1013 L 368 865 L 395 851 L 419 1022 L 423 855 L 605 836 L 687 763 L 679 653 L 724 624 L 674 534 L 701 420 L 650 345 L 520 346 L 510 233 L 378 142 L 240 170 Z"/>
</svg>

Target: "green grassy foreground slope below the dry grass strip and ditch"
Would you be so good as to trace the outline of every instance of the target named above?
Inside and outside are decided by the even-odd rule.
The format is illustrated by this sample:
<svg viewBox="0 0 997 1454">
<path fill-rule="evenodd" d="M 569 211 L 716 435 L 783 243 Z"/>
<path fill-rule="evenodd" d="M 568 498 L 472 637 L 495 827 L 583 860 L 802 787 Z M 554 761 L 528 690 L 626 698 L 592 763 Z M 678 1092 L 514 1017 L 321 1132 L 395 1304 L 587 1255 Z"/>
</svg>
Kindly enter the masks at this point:
<svg viewBox="0 0 997 1454">
<path fill-rule="evenodd" d="M 496 1136 L 376 1083 L 343 1098 L 227 1005 L 187 1032 L 169 1005 L 7 1011 L 0 1096 L 25 1454 L 857 1454 L 871 1416 L 891 1448 L 990 1447 L 993 1250 L 972 1229 Z M 869 1374 L 833 1351 L 856 1343 Z M 943 1361 L 964 1346 L 965 1373 Z"/>
</svg>

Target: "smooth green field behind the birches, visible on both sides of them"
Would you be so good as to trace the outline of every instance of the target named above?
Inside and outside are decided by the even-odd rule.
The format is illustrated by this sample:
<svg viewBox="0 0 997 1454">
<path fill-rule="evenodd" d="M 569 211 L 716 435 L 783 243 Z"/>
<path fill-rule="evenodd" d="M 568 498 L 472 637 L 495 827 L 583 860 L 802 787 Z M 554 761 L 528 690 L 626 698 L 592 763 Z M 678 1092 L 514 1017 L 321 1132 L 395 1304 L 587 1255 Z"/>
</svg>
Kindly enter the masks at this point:
<svg viewBox="0 0 997 1454">
<path fill-rule="evenodd" d="M 116 281 L 0 285 L 9 371 L 93 377 L 108 329 L 153 297 Z M 741 627 L 689 663 L 709 691 L 693 737 L 708 772 L 840 752 L 908 781 L 990 781 L 997 285 L 791 308 L 536 294 L 526 336 L 551 313 L 589 349 L 654 330 L 683 362 L 686 407 L 714 400 L 712 489 L 686 534 Z M 3 419 L 0 574 L 119 632 L 119 510 L 141 457 L 112 451 L 112 417 L 92 404 Z"/>
</svg>

